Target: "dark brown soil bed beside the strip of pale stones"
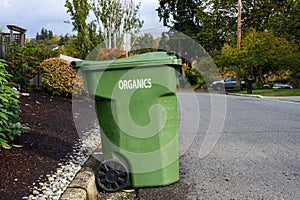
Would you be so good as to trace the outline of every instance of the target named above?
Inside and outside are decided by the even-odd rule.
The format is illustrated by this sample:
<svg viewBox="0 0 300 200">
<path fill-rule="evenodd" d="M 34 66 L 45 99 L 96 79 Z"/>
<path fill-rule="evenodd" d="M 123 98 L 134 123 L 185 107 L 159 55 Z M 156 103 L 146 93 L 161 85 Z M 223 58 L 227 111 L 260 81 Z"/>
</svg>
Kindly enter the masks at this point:
<svg viewBox="0 0 300 200">
<path fill-rule="evenodd" d="M 56 171 L 58 162 L 78 142 L 72 100 L 33 92 L 20 98 L 20 118 L 30 130 L 10 150 L 0 149 L 0 199 L 18 200 L 32 192 L 33 183 Z"/>
</svg>

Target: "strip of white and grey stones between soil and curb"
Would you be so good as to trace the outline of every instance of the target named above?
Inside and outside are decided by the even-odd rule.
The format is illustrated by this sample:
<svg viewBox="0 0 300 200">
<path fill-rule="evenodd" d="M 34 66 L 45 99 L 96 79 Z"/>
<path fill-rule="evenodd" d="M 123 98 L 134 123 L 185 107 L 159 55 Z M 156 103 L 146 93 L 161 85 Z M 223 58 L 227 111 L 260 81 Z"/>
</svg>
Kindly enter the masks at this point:
<svg viewBox="0 0 300 200">
<path fill-rule="evenodd" d="M 75 178 L 75 175 L 81 169 L 81 166 L 87 161 L 89 156 L 101 146 L 100 131 L 98 123 L 95 122 L 92 128 L 83 134 L 73 147 L 72 153 L 59 161 L 58 169 L 55 172 L 47 174 L 45 177 L 40 176 L 39 180 L 45 180 L 34 183 L 32 194 L 23 197 L 24 200 L 59 200 L 68 185 Z"/>
</svg>

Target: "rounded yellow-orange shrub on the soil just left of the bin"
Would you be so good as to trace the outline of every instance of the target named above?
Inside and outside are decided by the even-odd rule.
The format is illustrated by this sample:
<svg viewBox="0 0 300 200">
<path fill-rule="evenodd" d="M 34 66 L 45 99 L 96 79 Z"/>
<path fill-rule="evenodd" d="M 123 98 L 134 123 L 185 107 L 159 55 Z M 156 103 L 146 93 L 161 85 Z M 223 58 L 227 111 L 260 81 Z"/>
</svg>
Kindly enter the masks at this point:
<svg viewBox="0 0 300 200">
<path fill-rule="evenodd" d="M 73 92 L 74 94 L 82 93 L 83 81 L 76 76 L 70 62 L 60 58 L 50 58 L 43 61 L 40 67 L 43 74 L 43 86 L 51 94 L 71 96 Z"/>
</svg>

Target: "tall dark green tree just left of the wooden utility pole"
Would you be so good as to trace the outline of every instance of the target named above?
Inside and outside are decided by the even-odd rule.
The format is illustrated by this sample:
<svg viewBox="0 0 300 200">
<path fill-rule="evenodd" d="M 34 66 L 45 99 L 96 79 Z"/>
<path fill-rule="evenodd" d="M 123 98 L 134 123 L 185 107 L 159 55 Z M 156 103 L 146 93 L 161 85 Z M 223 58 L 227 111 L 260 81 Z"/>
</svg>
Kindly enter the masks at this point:
<svg viewBox="0 0 300 200">
<path fill-rule="evenodd" d="M 198 40 L 212 51 L 221 48 L 222 40 L 232 33 L 233 13 L 229 15 L 231 9 L 227 7 L 222 8 L 216 0 L 161 0 L 157 11 L 165 26 Z"/>
</svg>

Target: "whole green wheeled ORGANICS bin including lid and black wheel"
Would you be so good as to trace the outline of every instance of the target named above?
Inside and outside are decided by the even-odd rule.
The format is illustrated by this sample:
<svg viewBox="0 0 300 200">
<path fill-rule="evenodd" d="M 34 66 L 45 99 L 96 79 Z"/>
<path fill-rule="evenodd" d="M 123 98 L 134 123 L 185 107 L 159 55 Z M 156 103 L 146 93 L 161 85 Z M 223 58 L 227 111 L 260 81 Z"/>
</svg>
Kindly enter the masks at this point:
<svg viewBox="0 0 300 200">
<path fill-rule="evenodd" d="M 175 73 L 181 68 L 181 59 L 167 52 L 81 63 L 101 127 L 105 161 L 96 173 L 101 189 L 179 180 Z"/>
</svg>

